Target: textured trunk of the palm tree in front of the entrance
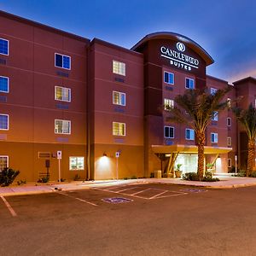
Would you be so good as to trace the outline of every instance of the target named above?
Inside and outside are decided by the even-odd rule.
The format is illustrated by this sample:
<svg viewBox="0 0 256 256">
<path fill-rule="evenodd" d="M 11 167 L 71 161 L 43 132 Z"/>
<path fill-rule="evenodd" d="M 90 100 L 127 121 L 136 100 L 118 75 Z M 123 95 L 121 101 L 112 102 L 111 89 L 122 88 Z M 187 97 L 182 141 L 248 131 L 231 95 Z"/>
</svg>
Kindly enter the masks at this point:
<svg viewBox="0 0 256 256">
<path fill-rule="evenodd" d="M 206 142 L 205 133 L 204 132 L 196 133 L 196 144 L 198 148 L 197 174 L 200 180 L 202 180 L 204 177 L 205 142 Z"/>
</svg>

